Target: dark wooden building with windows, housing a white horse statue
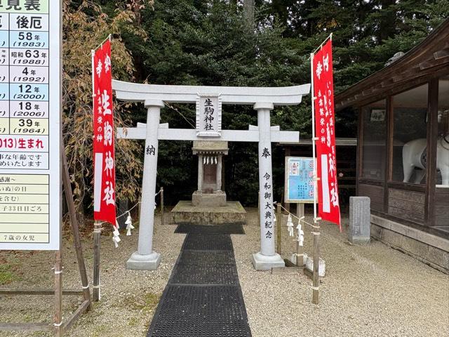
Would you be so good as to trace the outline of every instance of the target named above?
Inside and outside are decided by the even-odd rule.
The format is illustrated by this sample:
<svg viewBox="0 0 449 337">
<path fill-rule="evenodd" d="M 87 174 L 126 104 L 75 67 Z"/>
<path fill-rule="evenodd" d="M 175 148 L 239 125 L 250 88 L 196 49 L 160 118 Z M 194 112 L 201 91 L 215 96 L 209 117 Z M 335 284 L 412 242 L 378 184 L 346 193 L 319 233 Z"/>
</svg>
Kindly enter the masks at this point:
<svg viewBox="0 0 449 337">
<path fill-rule="evenodd" d="M 449 271 L 449 20 L 335 97 L 358 114 L 356 194 L 372 236 Z"/>
</svg>

